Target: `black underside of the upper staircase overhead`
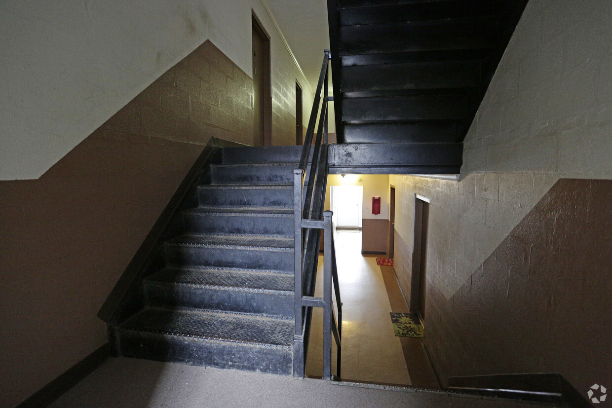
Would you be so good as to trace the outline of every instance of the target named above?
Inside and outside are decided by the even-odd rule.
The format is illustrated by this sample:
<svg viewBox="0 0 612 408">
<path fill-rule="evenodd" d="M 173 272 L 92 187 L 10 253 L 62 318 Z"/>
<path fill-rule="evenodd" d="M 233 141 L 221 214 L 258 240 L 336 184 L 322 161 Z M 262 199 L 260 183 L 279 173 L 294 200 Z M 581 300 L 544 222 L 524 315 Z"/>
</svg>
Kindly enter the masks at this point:
<svg viewBox="0 0 612 408">
<path fill-rule="evenodd" d="M 331 171 L 457 174 L 463 139 L 526 0 L 327 4 L 344 144 L 332 152 Z"/>
</svg>

